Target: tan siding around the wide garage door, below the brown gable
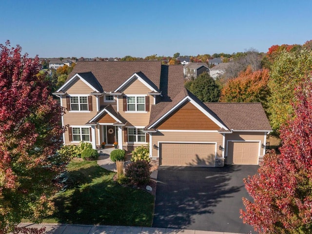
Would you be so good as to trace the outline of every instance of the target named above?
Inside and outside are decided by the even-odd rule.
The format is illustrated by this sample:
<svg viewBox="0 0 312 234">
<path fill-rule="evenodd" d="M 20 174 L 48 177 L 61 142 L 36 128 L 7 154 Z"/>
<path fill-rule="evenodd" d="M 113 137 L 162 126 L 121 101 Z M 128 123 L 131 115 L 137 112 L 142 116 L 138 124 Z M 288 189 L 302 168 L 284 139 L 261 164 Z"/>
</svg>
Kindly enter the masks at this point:
<svg viewBox="0 0 312 234">
<path fill-rule="evenodd" d="M 157 145 L 158 142 L 216 142 L 217 157 L 222 157 L 222 151 L 219 150 L 219 145 L 222 145 L 222 135 L 219 133 L 202 133 L 202 132 L 161 132 L 152 134 L 152 142 L 150 144 Z M 158 150 L 152 149 L 152 156 L 158 156 Z"/>
</svg>

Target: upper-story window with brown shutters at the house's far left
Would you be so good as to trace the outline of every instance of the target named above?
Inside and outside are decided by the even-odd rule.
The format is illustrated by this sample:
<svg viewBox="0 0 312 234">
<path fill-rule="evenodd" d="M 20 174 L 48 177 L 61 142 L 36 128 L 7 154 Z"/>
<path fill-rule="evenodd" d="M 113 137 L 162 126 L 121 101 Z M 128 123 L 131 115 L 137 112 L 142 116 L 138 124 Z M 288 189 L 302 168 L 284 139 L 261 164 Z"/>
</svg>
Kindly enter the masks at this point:
<svg viewBox="0 0 312 234">
<path fill-rule="evenodd" d="M 67 96 L 68 111 L 92 111 L 92 96 Z"/>
</svg>

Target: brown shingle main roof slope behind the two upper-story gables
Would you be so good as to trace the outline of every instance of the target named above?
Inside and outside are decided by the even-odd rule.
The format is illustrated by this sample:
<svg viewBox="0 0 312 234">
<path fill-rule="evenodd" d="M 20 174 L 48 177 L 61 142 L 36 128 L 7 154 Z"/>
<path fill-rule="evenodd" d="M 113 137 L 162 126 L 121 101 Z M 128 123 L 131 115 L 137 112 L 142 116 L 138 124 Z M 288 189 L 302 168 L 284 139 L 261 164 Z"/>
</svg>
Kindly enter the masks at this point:
<svg viewBox="0 0 312 234">
<path fill-rule="evenodd" d="M 113 92 L 136 72 L 159 87 L 161 61 L 78 61 L 68 78 L 83 72 L 92 72 L 105 92 Z"/>
</svg>

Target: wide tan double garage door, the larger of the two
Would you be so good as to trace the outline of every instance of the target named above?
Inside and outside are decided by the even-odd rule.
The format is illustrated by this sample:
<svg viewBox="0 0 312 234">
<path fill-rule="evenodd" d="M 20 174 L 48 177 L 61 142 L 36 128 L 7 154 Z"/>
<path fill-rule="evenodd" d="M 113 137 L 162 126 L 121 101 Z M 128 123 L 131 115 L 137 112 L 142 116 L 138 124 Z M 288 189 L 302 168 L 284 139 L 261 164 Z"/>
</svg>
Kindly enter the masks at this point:
<svg viewBox="0 0 312 234">
<path fill-rule="evenodd" d="M 160 164 L 215 166 L 215 144 L 161 143 Z"/>
</svg>

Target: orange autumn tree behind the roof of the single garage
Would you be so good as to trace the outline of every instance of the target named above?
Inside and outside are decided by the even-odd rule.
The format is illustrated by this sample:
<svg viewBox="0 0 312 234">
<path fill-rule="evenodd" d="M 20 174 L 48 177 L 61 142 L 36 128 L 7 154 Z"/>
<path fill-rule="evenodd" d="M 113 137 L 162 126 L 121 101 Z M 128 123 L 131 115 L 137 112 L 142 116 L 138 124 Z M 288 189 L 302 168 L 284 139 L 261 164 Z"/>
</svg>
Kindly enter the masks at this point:
<svg viewBox="0 0 312 234">
<path fill-rule="evenodd" d="M 237 78 L 229 79 L 221 90 L 221 102 L 261 102 L 267 106 L 269 96 L 269 70 L 257 70 L 248 66 Z"/>
</svg>

